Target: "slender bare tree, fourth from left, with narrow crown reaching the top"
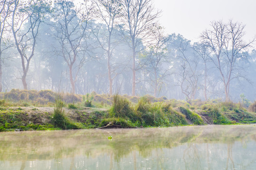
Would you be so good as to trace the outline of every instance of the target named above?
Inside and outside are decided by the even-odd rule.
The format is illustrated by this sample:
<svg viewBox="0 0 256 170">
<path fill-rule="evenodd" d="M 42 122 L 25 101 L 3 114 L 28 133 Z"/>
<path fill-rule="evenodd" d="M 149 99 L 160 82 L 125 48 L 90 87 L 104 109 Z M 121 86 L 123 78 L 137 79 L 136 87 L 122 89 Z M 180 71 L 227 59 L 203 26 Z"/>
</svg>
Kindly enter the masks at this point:
<svg viewBox="0 0 256 170">
<path fill-rule="evenodd" d="M 96 4 L 95 16 L 106 25 L 107 34 L 100 34 L 99 30 L 95 29 L 95 36 L 100 44 L 100 47 L 105 51 L 107 55 L 107 69 L 109 80 L 109 93 L 113 93 L 113 80 L 117 75 L 113 68 L 112 58 L 115 46 L 118 45 L 118 41 L 114 40 L 115 26 L 118 24 L 117 19 L 120 17 L 121 3 L 119 0 L 94 0 Z M 103 36 L 100 37 L 100 36 Z"/>
</svg>

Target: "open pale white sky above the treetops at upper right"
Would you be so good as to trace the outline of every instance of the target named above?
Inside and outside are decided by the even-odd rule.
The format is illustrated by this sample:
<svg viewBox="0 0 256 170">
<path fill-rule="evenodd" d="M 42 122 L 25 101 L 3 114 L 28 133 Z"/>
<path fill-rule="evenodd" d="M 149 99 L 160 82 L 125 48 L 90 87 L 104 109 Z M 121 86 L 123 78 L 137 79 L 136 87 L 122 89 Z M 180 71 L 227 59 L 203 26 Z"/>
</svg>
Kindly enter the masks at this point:
<svg viewBox="0 0 256 170">
<path fill-rule="evenodd" d="M 167 34 L 182 34 L 193 42 L 213 20 L 242 22 L 246 41 L 256 35 L 256 0 L 155 0 L 155 8 L 162 10 L 160 23 Z"/>
</svg>

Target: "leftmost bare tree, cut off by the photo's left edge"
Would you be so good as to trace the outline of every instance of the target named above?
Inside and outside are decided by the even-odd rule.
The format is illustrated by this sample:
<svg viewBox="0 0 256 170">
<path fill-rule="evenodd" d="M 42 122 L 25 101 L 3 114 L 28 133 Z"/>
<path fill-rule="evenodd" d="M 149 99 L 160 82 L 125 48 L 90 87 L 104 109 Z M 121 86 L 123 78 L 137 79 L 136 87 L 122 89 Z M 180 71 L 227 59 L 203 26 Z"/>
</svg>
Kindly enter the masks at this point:
<svg viewBox="0 0 256 170">
<path fill-rule="evenodd" d="M 13 0 L 3 0 L 0 2 L 0 92 L 2 91 L 2 54 L 10 45 L 7 43 L 8 24 L 7 20 L 11 14 Z M 4 34 L 5 33 L 5 34 Z M 5 39 L 4 39 L 5 38 Z"/>
</svg>

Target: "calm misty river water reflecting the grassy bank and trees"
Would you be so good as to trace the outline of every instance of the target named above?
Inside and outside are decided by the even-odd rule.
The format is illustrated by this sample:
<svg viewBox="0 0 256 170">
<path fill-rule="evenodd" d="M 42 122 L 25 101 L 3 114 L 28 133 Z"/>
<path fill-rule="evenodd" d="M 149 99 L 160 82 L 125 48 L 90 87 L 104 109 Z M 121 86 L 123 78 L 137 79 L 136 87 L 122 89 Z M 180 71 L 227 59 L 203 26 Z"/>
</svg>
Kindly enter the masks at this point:
<svg viewBox="0 0 256 170">
<path fill-rule="evenodd" d="M 256 170 L 256 125 L 1 132 L 0 170 Z"/>
</svg>

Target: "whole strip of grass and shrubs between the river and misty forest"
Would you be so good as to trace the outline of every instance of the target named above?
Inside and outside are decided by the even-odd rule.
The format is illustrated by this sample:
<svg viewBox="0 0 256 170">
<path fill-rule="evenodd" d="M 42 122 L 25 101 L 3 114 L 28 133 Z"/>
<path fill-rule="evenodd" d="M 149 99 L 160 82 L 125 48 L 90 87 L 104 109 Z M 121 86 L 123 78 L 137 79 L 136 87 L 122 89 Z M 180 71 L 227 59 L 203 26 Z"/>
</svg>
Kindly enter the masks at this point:
<svg viewBox="0 0 256 170">
<path fill-rule="evenodd" d="M 49 90 L 0 93 L 0 131 L 256 123 L 256 102 L 244 108 L 244 103 L 178 101 L 149 95 L 138 98 L 94 92 L 61 96 Z"/>
</svg>

